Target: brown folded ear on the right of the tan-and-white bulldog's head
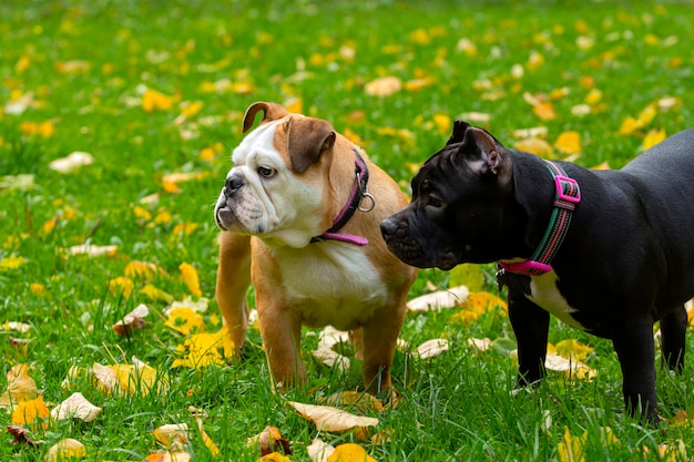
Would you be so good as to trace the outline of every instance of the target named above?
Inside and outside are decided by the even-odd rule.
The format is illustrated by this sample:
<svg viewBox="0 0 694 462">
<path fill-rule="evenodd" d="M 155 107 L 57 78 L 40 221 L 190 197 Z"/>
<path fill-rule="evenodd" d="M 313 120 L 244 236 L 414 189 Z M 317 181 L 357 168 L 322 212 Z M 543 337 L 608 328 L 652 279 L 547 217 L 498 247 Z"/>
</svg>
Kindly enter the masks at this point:
<svg viewBox="0 0 694 462">
<path fill-rule="evenodd" d="M 335 129 L 329 122 L 313 117 L 292 117 L 287 122 L 287 151 L 292 168 L 304 173 L 335 144 Z"/>
</svg>

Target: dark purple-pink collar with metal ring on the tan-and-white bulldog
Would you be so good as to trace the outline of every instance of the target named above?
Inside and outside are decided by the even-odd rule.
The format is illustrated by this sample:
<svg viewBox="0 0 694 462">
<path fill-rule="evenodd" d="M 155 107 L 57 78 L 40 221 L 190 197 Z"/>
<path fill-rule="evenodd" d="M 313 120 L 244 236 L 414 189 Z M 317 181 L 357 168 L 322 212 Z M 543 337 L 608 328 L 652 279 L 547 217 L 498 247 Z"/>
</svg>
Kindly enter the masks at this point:
<svg viewBox="0 0 694 462">
<path fill-rule="evenodd" d="M 354 148 L 356 161 L 355 161 L 355 185 L 351 188 L 351 194 L 349 195 L 349 199 L 347 199 L 347 204 L 343 207 L 340 213 L 333 222 L 333 226 L 330 229 L 323 233 L 320 236 L 316 236 L 312 239 L 312 243 L 317 243 L 322 240 L 339 240 L 341 243 L 354 244 L 356 246 L 365 246 L 369 243 L 366 237 L 356 236 L 353 234 L 344 234 L 337 233 L 343 226 L 349 222 L 349 219 L 354 216 L 357 211 L 361 212 L 371 212 L 376 206 L 376 201 L 374 196 L 369 194 L 368 191 L 368 181 L 369 181 L 369 170 L 366 166 L 366 162 L 359 155 L 359 152 Z M 370 201 L 370 204 L 367 207 L 363 207 L 361 201 L 367 197 Z"/>
</svg>

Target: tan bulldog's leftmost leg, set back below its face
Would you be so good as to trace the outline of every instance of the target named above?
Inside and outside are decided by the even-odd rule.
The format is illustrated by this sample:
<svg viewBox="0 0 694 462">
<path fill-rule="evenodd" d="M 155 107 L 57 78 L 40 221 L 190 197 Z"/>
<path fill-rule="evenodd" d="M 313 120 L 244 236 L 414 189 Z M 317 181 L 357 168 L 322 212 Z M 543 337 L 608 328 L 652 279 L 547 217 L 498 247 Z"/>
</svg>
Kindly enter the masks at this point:
<svg viewBox="0 0 694 462">
<path fill-rule="evenodd" d="M 220 236 L 220 266 L 215 298 L 229 336 L 236 358 L 246 340 L 248 307 L 246 294 L 251 284 L 251 243 L 248 236 L 223 232 Z"/>
</svg>

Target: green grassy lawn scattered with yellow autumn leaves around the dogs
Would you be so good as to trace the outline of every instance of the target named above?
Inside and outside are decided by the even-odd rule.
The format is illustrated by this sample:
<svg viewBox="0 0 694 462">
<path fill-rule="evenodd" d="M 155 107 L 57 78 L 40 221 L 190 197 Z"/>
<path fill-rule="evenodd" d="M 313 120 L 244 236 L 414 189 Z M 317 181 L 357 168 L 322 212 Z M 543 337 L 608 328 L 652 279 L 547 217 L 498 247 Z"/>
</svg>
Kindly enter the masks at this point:
<svg viewBox="0 0 694 462">
<path fill-rule="evenodd" d="M 379 419 L 374 432 L 389 435 L 382 443 L 317 431 L 287 408 L 361 387 L 358 363 L 340 372 L 310 358 L 315 335 L 303 351 L 310 383 L 286 397 L 272 392 L 256 329 L 243 362 L 185 365 L 186 340 L 190 348 L 195 332 L 222 327 L 212 206 L 254 101 L 331 121 L 404 189 L 461 115 L 507 145 L 588 167 L 621 167 L 693 125 L 691 2 L 478 3 L 1 2 L 0 393 L 16 383 L 6 378 L 11 368 L 29 365 L 31 398 L 41 393 L 49 410 L 81 392 L 102 411 L 91 422 L 25 423 L 44 441 L 35 445 L 3 433 L 0 460 L 42 461 L 65 438 L 90 461 L 157 460 L 151 454 L 164 446 L 152 431 L 172 423 L 191 429 L 185 451 L 195 461 L 256 461 L 261 451 L 246 440 L 266 425 L 289 440 L 293 461 L 309 460 L 315 438 L 356 442 L 378 461 L 663 460 L 659 446 L 665 460 L 685 460 L 678 448 L 694 446 L 682 412 L 694 412 L 691 362 L 683 377 L 659 371 L 666 422 L 640 429 L 623 412 L 611 343 L 553 321 L 550 340 L 589 347 L 583 361 L 595 377 L 550 372 L 537 392 L 513 397 L 513 333 L 500 304 L 476 317 L 462 316 L 469 307 L 408 314 L 401 337 L 410 348 L 392 371 L 397 405 L 366 412 Z M 374 94 L 382 78 L 399 90 L 381 84 L 386 94 Z M 542 129 L 534 137 L 519 133 L 533 127 Z M 50 166 L 75 152 L 91 165 Z M 83 244 L 106 253 L 70 254 Z M 422 271 L 411 296 L 466 284 L 503 297 L 492 273 Z M 206 311 L 167 325 L 172 301 L 205 299 Z M 146 327 L 116 335 L 112 326 L 141 304 Z M 432 338 L 449 350 L 420 359 L 415 347 Z M 479 351 L 470 338 L 493 347 Z M 130 388 L 121 376 L 125 390 L 94 368 L 132 372 L 133 357 L 153 370 Z M 18 403 L 4 407 L 3 428 Z"/>
</svg>

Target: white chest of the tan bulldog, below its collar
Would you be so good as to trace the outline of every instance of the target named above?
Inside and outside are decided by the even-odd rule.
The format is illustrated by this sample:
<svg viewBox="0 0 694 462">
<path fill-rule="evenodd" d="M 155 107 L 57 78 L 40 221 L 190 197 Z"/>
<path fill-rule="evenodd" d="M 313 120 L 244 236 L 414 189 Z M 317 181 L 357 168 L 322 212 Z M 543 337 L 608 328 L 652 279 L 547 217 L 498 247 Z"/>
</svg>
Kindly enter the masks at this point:
<svg viewBox="0 0 694 462">
<path fill-rule="evenodd" d="M 363 247 L 324 242 L 276 257 L 287 301 L 306 326 L 355 329 L 386 302 L 387 289 Z"/>
</svg>

